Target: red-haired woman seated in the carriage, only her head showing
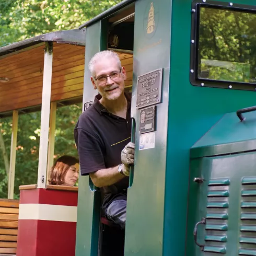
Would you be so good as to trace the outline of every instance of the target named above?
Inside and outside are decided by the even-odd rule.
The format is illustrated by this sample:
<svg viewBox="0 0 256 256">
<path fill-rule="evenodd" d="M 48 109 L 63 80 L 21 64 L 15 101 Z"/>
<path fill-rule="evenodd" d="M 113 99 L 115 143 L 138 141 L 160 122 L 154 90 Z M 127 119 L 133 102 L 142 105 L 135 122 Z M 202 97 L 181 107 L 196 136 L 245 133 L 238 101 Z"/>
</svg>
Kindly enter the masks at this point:
<svg viewBox="0 0 256 256">
<path fill-rule="evenodd" d="M 74 186 L 79 173 L 79 161 L 73 156 L 61 156 L 52 166 L 49 184 Z"/>
</svg>

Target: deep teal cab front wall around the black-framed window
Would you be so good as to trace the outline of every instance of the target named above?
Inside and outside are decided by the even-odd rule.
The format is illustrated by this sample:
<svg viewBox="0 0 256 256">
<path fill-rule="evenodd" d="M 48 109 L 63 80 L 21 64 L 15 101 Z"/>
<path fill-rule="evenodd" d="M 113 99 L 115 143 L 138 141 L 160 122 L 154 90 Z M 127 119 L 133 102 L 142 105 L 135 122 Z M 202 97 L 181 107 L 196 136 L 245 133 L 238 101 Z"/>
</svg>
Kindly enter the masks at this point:
<svg viewBox="0 0 256 256">
<path fill-rule="evenodd" d="M 255 5 L 253 0 L 232 3 Z M 255 105 L 253 91 L 192 86 L 189 80 L 190 43 L 191 0 L 172 0 L 164 252 L 161 255 L 186 253 L 190 148 L 224 114 Z M 190 193 L 196 201 L 195 191 Z M 188 232 L 192 236 L 193 230 Z M 189 249 L 186 255 L 192 256 Z"/>
</svg>

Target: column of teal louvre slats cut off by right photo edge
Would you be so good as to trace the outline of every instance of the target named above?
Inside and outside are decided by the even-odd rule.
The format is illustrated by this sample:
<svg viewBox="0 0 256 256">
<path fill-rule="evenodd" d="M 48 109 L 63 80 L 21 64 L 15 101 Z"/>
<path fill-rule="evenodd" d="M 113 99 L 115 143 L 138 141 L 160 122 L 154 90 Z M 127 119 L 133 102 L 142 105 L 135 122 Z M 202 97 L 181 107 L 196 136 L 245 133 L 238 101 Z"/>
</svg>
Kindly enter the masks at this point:
<svg viewBox="0 0 256 256">
<path fill-rule="evenodd" d="M 256 177 L 242 179 L 239 255 L 256 256 Z"/>
</svg>

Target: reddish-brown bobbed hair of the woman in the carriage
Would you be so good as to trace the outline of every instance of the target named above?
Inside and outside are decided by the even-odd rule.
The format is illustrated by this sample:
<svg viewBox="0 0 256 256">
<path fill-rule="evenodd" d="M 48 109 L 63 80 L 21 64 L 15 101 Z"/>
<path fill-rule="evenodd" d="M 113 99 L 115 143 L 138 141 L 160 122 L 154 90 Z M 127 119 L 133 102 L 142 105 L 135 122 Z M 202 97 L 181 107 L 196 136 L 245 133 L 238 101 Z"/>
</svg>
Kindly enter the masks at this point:
<svg viewBox="0 0 256 256">
<path fill-rule="evenodd" d="M 79 164 L 79 160 L 73 156 L 59 157 L 49 173 L 49 184 L 62 185 L 69 167 L 75 164 Z"/>
</svg>

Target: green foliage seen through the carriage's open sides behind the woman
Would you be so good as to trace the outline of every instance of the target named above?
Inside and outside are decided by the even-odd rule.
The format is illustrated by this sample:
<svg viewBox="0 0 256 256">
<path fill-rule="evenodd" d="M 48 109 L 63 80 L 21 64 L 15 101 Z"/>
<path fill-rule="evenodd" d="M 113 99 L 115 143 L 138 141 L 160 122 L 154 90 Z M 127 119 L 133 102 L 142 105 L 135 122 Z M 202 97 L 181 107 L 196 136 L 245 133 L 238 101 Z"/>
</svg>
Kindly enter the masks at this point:
<svg viewBox="0 0 256 256">
<path fill-rule="evenodd" d="M 82 113 L 82 103 L 57 109 L 54 158 L 61 155 L 78 157 L 74 141 L 74 127 Z M 19 198 L 19 186 L 37 183 L 41 112 L 19 115 L 15 166 L 15 198 Z M 11 118 L 0 120 L 0 131 L 10 154 Z M 0 152 L 2 154 L 2 152 Z M 6 198 L 8 179 L 0 157 L 0 198 Z"/>
</svg>

